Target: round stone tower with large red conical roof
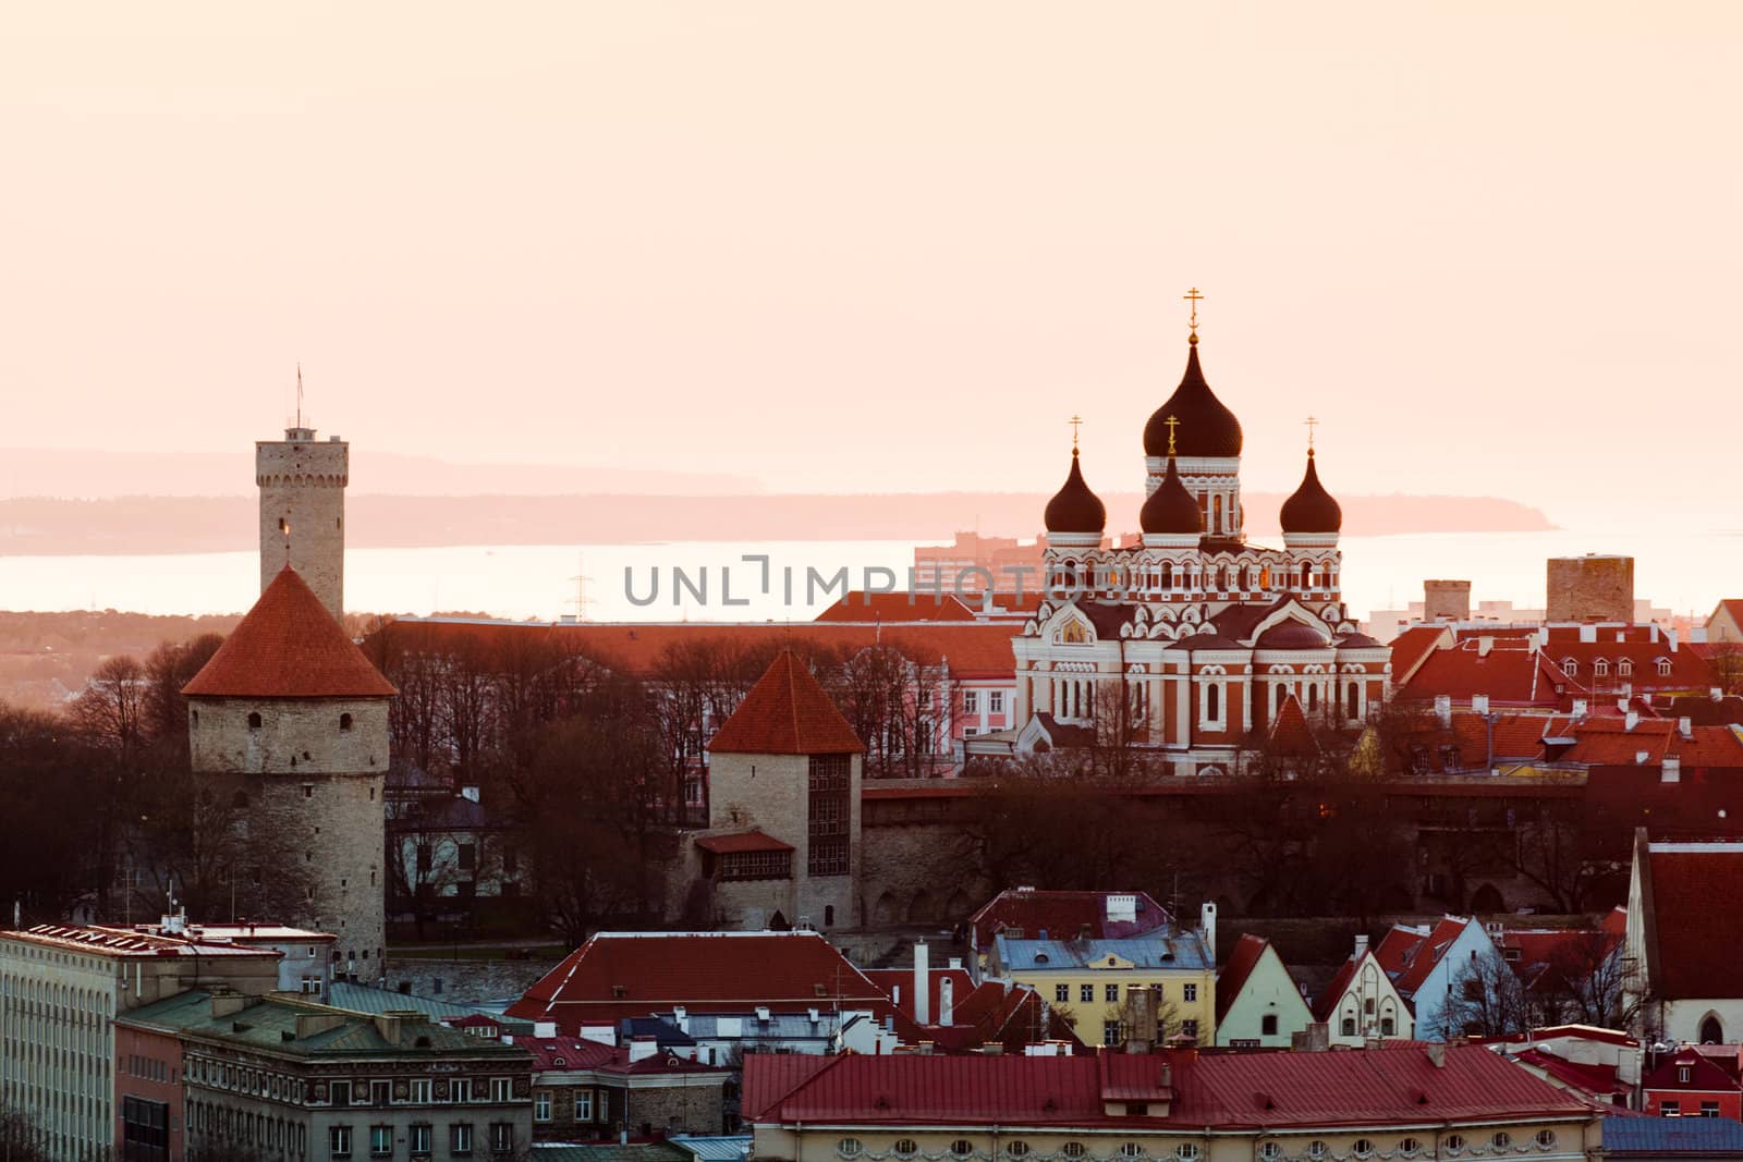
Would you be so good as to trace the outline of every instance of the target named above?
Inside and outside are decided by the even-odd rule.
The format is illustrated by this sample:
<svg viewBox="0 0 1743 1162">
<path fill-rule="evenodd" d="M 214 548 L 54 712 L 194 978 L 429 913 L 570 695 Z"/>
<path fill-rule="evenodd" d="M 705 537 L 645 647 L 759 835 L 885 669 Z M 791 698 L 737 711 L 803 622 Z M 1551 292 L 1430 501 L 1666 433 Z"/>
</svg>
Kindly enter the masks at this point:
<svg viewBox="0 0 1743 1162">
<path fill-rule="evenodd" d="M 181 693 L 193 772 L 237 808 L 249 868 L 289 887 L 274 920 L 331 932 L 338 970 L 380 976 L 394 686 L 282 566 Z"/>
</svg>

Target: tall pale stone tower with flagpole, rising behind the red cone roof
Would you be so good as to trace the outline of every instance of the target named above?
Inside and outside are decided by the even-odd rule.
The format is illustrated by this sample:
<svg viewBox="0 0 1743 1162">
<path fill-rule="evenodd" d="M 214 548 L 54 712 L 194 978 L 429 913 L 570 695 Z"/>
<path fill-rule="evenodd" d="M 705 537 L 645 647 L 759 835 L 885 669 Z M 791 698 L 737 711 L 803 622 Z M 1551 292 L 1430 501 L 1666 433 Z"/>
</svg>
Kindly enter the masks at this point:
<svg viewBox="0 0 1743 1162">
<path fill-rule="evenodd" d="M 298 376 L 298 388 L 302 376 Z M 315 591 L 335 620 L 345 613 L 345 484 L 350 444 L 315 441 L 312 427 L 284 429 L 282 441 L 254 443 L 260 486 L 260 591 L 286 564 Z"/>
</svg>

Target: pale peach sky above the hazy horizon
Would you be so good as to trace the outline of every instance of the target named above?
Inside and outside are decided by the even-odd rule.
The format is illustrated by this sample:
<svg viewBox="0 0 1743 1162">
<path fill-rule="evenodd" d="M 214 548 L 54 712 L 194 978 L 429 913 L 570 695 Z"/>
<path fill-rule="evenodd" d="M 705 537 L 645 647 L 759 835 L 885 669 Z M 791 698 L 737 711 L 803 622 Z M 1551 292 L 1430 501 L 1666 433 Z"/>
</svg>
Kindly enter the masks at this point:
<svg viewBox="0 0 1743 1162">
<path fill-rule="evenodd" d="M 1522 10 L 1523 9 L 1523 10 Z M 1727 510 L 1743 5 L 0 12 L 3 444 Z M 148 488 L 145 488 L 148 490 Z"/>
</svg>

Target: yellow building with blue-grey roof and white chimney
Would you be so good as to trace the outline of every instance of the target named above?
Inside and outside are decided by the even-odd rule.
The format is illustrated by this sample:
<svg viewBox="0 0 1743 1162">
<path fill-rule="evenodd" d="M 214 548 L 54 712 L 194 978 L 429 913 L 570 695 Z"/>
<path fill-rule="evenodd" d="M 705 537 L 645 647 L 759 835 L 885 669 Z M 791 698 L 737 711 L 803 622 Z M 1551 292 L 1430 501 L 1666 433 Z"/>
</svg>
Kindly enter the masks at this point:
<svg viewBox="0 0 1743 1162">
<path fill-rule="evenodd" d="M 1034 988 L 1067 1016 L 1086 1045 L 1126 1040 L 1126 1002 L 1135 990 L 1154 990 L 1157 1040 L 1190 1037 L 1210 1045 L 1217 1037 L 1217 906 L 1204 904 L 1199 930 L 1166 927 L 1119 939 L 1075 932 L 999 934 L 988 974 Z"/>
</svg>

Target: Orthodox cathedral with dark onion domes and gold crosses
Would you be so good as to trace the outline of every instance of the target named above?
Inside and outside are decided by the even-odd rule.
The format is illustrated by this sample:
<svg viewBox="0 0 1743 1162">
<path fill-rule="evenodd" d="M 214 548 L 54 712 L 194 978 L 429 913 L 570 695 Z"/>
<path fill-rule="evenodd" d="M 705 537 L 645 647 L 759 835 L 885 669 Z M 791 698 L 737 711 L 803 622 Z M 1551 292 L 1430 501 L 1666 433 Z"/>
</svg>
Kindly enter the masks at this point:
<svg viewBox="0 0 1743 1162">
<path fill-rule="evenodd" d="M 1013 639 L 1018 749 L 1129 744 L 1213 775 L 1279 718 L 1367 719 L 1391 648 L 1344 608 L 1342 510 L 1309 439 L 1283 549 L 1248 544 L 1241 422 L 1204 380 L 1196 301 L 1185 376 L 1143 425 L 1143 470 L 1142 542 L 1110 549 L 1074 441 L 1046 509 L 1048 594 Z"/>
</svg>

